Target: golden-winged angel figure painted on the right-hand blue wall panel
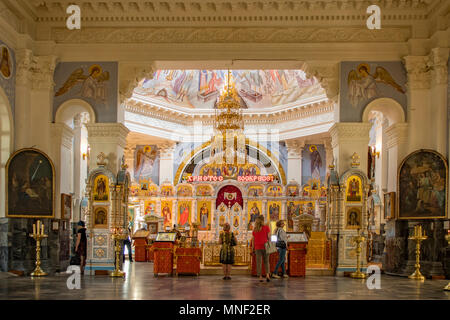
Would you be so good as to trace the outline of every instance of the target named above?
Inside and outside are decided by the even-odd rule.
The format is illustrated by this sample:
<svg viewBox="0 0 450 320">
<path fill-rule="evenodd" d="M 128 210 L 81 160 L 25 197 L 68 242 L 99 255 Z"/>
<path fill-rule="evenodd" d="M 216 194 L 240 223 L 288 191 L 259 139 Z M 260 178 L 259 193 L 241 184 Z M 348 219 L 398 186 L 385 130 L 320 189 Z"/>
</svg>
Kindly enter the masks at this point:
<svg viewBox="0 0 450 320">
<path fill-rule="evenodd" d="M 351 70 L 348 74 L 347 84 L 348 98 L 352 106 L 356 107 L 360 102 L 377 96 L 379 94 L 377 83 L 380 82 L 405 93 L 390 73 L 381 66 L 377 66 L 373 74 L 370 73 L 370 66 L 367 63 L 361 63 L 356 70 Z"/>
</svg>

